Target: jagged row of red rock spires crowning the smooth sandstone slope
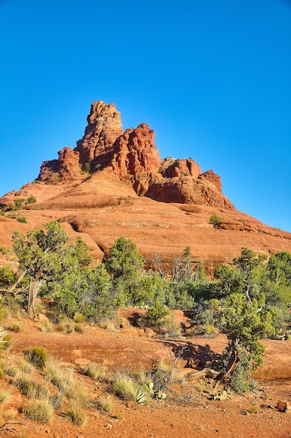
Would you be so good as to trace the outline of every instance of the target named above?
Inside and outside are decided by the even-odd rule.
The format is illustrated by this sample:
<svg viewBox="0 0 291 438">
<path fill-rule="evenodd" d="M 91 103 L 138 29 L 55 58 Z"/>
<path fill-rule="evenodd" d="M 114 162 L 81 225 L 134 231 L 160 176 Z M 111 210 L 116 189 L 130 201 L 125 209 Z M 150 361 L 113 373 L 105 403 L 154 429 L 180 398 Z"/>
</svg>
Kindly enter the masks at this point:
<svg viewBox="0 0 291 438">
<path fill-rule="evenodd" d="M 59 151 L 59 160 L 43 162 L 39 181 L 78 181 L 82 176 L 110 168 L 137 195 L 159 202 L 234 209 L 221 193 L 220 176 L 212 170 L 202 174 L 192 158 L 161 160 L 154 145 L 154 131 L 141 123 L 124 132 L 114 104 L 94 102 L 87 122 L 84 136 L 74 150 L 64 148 Z"/>
</svg>

